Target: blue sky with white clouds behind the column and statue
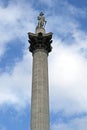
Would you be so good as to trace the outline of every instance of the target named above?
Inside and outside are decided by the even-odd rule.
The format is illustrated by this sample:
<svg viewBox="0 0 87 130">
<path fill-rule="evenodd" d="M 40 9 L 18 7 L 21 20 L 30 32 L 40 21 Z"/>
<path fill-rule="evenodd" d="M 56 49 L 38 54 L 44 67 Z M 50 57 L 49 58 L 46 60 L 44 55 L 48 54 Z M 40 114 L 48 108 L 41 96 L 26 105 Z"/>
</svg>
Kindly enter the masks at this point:
<svg viewBox="0 0 87 130">
<path fill-rule="evenodd" d="M 29 130 L 32 54 L 28 32 L 45 13 L 51 130 L 87 130 L 87 1 L 0 0 L 0 130 Z"/>
</svg>

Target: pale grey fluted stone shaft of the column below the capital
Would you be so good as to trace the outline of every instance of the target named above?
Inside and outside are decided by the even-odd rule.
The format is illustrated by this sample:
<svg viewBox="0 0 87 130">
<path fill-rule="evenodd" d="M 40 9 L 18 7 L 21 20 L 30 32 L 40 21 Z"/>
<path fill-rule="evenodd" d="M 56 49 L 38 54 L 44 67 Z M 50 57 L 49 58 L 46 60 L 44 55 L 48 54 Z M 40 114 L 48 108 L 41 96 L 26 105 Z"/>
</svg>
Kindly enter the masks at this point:
<svg viewBox="0 0 87 130">
<path fill-rule="evenodd" d="M 33 53 L 31 130 L 49 130 L 48 56 L 44 49 Z"/>
</svg>

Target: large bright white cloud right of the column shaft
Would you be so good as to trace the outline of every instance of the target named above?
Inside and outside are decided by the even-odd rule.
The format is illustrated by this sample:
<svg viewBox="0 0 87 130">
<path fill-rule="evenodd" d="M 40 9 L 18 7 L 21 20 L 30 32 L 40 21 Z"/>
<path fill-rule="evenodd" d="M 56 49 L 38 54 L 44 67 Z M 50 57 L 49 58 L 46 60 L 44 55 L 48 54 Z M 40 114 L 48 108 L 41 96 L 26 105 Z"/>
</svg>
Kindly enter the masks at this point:
<svg viewBox="0 0 87 130">
<path fill-rule="evenodd" d="M 49 64 L 51 109 L 66 114 L 87 112 L 87 59 L 79 53 L 78 44 L 54 44 Z"/>
</svg>

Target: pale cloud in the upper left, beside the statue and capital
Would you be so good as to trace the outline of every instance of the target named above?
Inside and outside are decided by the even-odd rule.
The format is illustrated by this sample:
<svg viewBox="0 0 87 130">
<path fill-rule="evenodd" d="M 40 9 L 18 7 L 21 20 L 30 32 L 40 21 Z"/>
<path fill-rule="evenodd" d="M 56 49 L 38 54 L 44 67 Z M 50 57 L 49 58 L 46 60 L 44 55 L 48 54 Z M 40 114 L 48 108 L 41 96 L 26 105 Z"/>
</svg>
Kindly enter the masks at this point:
<svg viewBox="0 0 87 130">
<path fill-rule="evenodd" d="M 20 40 L 27 38 L 27 32 L 34 31 L 36 11 L 31 5 L 23 2 L 10 1 L 4 7 L 0 6 L 0 56 L 5 53 L 6 45 L 17 37 Z"/>
</svg>

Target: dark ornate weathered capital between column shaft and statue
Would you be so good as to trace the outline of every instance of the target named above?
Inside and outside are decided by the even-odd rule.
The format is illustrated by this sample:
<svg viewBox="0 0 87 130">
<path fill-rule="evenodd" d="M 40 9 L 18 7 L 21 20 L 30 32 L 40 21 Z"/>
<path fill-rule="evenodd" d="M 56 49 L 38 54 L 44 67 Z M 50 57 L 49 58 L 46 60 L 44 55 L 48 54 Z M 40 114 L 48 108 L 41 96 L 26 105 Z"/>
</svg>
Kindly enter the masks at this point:
<svg viewBox="0 0 87 130">
<path fill-rule="evenodd" d="M 52 33 L 28 33 L 28 37 L 29 37 L 29 43 L 30 43 L 30 47 L 29 47 L 29 51 L 34 53 L 35 50 L 37 49 L 44 49 L 45 51 L 47 51 L 47 53 L 51 52 L 52 47 L 51 47 L 51 43 L 52 43 Z"/>
</svg>

